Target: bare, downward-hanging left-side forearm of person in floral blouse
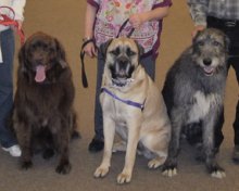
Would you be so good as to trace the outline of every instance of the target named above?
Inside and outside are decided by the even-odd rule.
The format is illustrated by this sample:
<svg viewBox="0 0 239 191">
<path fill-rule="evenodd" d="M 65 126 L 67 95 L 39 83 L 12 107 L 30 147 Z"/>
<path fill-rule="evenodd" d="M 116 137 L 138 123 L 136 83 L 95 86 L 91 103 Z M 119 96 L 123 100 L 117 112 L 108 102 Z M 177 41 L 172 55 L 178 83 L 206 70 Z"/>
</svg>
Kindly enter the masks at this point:
<svg viewBox="0 0 239 191">
<path fill-rule="evenodd" d="M 84 38 L 93 37 L 93 23 L 96 20 L 97 9 L 91 4 L 87 4 L 85 17 L 85 35 Z"/>
</svg>

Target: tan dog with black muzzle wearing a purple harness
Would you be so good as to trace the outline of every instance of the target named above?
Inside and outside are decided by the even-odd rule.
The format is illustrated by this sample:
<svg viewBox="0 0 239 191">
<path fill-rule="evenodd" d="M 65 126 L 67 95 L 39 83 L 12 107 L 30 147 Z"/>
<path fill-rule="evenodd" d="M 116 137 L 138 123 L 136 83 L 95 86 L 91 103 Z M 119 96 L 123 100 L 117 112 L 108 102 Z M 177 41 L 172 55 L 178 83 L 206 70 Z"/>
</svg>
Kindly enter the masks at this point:
<svg viewBox="0 0 239 191">
<path fill-rule="evenodd" d="M 125 167 L 117 177 L 118 183 L 125 183 L 131 179 L 137 147 L 151 157 L 149 168 L 165 162 L 171 124 L 160 90 L 139 65 L 142 48 L 122 37 L 103 44 L 101 51 L 105 53 L 100 96 L 105 143 L 95 177 L 109 173 L 112 151 L 126 151 Z M 115 130 L 123 141 L 113 148 Z"/>
</svg>

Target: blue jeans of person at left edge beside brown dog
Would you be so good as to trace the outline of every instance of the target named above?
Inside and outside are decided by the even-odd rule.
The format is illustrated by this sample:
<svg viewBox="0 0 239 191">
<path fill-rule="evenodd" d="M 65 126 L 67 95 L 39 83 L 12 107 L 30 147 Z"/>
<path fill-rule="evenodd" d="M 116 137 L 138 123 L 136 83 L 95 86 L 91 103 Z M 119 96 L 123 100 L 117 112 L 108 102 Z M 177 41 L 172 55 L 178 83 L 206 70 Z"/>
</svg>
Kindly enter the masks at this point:
<svg viewBox="0 0 239 191">
<path fill-rule="evenodd" d="M 14 34 L 12 29 L 0 33 L 3 63 L 0 63 L 0 143 L 4 148 L 16 144 L 16 139 L 8 127 L 8 118 L 13 106 L 13 59 Z"/>
</svg>

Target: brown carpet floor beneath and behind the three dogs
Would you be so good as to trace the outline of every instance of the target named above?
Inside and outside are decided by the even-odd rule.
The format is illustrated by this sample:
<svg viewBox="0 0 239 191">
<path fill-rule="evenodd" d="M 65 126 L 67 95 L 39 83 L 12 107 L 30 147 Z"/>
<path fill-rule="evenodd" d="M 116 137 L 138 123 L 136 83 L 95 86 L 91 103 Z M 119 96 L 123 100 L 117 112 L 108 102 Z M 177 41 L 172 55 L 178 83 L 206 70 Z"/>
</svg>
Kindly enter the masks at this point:
<svg viewBox="0 0 239 191">
<path fill-rule="evenodd" d="M 13 158 L 0 150 L 0 191 L 238 191 L 239 166 L 231 162 L 232 122 L 238 99 L 238 85 L 232 71 L 229 72 L 226 90 L 224 126 L 225 141 L 221 148 L 218 161 L 226 169 L 227 177 L 218 180 L 211 178 L 203 164 L 193 158 L 193 150 L 184 145 L 179 156 L 179 175 L 166 178 L 161 170 L 149 170 L 147 160 L 137 156 L 133 180 L 126 186 L 117 186 L 116 177 L 124 165 L 124 154 L 112 158 L 110 174 L 103 179 L 95 179 L 93 171 L 100 164 L 102 153 L 88 152 L 88 143 L 93 136 L 93 102 L 96 86 L 96 60 L 86 60 L 89 88 L 80 82 L 79 49 L 84 31 L 85 0 L 28 0 L 25 10 L 24 30 L 30 36 L 37 30 L 59 38 L 67 52 L 76 87 L 75 107 L 78 113 L 78 129 L 83 138 L 71 143 L 70 175 L 54 171 L 58 158 L 48 162 L 35 155 L 34 167 L 27 171 L 20 169 L 18 158 Z M 161 54 L 158 59 L 156 84 L 162 88 L 165 73 L 181 51 L 190 44 L 192 22 L 186 2 L 174 1 L 171 14 L 164 22 Z M 17 49 L 20 44 L 17 42 Z M 17 66 L 17 62 L 15 62 Z"/>
</svg>

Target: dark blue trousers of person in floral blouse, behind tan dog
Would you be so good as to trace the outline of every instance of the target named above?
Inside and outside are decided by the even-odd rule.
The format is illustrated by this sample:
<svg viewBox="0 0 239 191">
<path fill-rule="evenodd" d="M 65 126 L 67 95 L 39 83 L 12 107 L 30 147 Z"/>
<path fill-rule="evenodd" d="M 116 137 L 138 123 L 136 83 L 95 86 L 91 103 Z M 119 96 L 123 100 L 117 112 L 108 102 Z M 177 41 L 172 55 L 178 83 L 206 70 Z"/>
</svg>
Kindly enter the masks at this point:
<svg viewBox="0 0 239 191">
<path fill-rule="evenodd" d="M 140 64 L 146 68 L 146 72 L 154 80 L 155 76 L 155 58 L 148 55 L 140 60 Z M 96 101 L 95 101 L 95 138 L 103 140 L 103 115 L 100 105 L 100 89 L 102 82 L 102 74 L 104 69 L 104 58 L 99 52 L 97 63 L 97 89 L 96 89 Z"/>
</svg>

